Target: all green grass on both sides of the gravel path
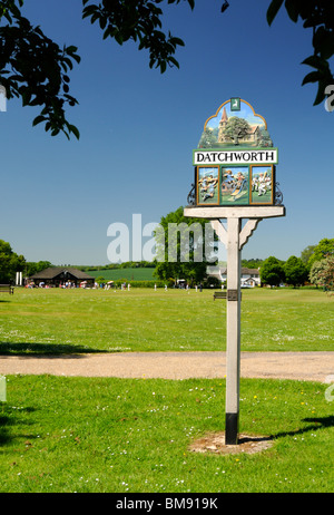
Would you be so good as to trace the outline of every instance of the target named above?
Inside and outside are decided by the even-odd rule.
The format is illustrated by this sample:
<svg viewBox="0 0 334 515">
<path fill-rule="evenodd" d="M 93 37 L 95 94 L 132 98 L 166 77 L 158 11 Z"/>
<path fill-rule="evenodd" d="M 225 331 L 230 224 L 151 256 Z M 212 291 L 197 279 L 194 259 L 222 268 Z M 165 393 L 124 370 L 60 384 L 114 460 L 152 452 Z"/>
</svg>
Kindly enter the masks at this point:
<svg viewBox="0 0 334 515">
<path fill-rule="evenodd" d="M 334 299 L 244 290 L 242 350 L 333 350 Z M 0 353 L 224 350 L 212 291 L 20 290 L 0 295 Z M 328 385 L 242 379 L 256 455 L 190 453 L 224 430 L 225 380 L 7 377 L 0 492 L 333 492 Z"/>
</svg>

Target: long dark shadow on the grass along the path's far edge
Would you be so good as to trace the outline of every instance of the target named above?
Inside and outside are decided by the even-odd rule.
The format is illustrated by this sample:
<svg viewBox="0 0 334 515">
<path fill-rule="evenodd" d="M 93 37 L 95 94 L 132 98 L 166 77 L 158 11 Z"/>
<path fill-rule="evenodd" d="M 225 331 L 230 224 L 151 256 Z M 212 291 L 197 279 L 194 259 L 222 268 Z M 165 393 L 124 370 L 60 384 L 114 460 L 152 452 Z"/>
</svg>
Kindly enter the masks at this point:
<svg viewBox="0 0 334 515">
<path fill-rule="evenodd" d="M 63 354 L 84 354 L 101 352 L 106 352 L 106 350 L 98 350 L 84 346 L 81 347 L 61 343 L 13 343 L 8 341 L 0 341 L 0 356 L 24 356 L 24 358 L 37 358 L 40 354 L 43 357 L 49 356 L 50 358 L 57 358 L 63 357 Z M 80 356 L 78 356 L 78 358 L 80 358 Z"/>
</svg>

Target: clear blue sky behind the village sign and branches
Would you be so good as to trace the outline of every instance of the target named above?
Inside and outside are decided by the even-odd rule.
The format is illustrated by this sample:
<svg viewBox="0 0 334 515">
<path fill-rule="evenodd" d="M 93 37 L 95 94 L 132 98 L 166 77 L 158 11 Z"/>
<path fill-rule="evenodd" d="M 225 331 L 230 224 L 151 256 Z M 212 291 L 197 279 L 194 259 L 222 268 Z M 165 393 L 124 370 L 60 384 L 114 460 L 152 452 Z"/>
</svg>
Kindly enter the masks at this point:
<svg viewBox="0 0 334 515">
<path fill-rule="evenodd" d="M 26 12 L 59 45 L 76 45 L 81 64 L 70 93 L 79 106 L 68 119 L 80 140 L 32 128 L 38 114 L 10 100 L 0 113 L 0 239 L 28 261 L 106 264 L 112 223 L 131 229 L 186 205 L 194 178 L 193 149 L 205 122 L 230 97 L 265 117 L 278 147 L 277 181 L 286 217 L 265 220 L 243 258 L 286 260 L 333 237 L 333 123 L 324 105 L 313 107 L 311 33 L 285 11 L 269 28 L 269 2 L 197 0 L 167 6 L 164 28 L 185 41 L 180 69 L 160 75 L 129 42 L 102 40 L 81 20 L 81 0 L 31 0 Z"/>
</svg>

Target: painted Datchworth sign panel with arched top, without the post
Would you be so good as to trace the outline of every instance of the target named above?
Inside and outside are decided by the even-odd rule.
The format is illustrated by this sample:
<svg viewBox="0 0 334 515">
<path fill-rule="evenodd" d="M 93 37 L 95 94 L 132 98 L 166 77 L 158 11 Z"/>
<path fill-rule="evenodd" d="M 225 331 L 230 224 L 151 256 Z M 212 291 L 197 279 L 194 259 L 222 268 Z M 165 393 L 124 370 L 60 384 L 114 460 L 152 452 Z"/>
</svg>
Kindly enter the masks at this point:
<svg viewBox="0 0 334 515">
<path fill-rule="evenodd" d="M 266 120 L 234 97 L 210 116 L 193 152 L 197 205 L 273 205 L 278 149 Z"/>
</svg>

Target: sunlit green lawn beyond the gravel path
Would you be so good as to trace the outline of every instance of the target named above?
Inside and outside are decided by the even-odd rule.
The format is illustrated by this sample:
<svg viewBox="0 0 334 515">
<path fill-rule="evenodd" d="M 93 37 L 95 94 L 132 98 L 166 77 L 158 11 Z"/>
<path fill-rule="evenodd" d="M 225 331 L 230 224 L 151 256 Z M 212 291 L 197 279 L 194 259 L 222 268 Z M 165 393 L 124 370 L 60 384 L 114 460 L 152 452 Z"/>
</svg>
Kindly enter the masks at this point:
<svg viewBox="0 0 334 515">
<path fill-rule="evenodd" d="M 243 351 L 327 351 L 334 298 L 317 290 L 243 290 Z M 214 351 L 226 301 L 213 291 L 26 290 L 0 294 L 0 353 Z"/>
</svg>

